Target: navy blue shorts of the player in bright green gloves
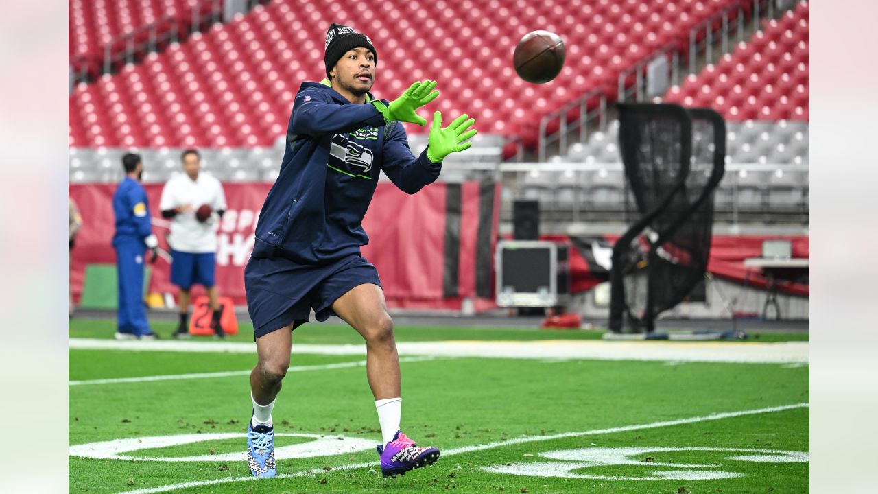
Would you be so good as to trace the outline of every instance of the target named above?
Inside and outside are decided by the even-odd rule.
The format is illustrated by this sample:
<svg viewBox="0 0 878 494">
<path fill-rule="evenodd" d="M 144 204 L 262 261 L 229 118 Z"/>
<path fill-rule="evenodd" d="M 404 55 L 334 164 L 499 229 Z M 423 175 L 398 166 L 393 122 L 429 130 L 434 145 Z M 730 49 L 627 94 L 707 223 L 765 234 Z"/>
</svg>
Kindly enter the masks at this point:
<svg viewBox="0 0 878 494">
<path fill-rule="evenodd" d="M 318 321 L 335 316 L 332 304 L 354 287 L 381 286 L 378 270 L 353 255 L 328 265 L 299 265 L 285 258 L 250 258 L 244 269 L 247 310 L 254 337 L 292 324 L 307 323 L 311 309 Z"/>
</svg>

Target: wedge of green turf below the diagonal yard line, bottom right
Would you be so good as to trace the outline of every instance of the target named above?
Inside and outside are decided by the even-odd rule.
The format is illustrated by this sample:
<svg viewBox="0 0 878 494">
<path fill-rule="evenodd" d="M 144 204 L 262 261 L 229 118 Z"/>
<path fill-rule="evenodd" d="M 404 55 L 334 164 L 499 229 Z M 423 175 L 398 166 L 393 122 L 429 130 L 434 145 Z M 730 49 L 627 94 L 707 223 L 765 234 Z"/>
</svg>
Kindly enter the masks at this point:
<svg viewBox="0 0 878 494">
<path fill-rule="evenodd" d="M 545 487 L 553 488 L 550 491 L 593 491 L 598 489 L 610 489 L 620 492 L 662 492 L 680 491 L 680 487 L 694 491 L 780 491 L 802 492 L 807 491 L 808 464 L 804 461 L 788 463 L 766 463 L 765 461 L 741 461 L 729 458 L 734 454 L 721 454 L 707 451 L 661 451 L 661 449 L 676 448 L 718 448 L 718 449 L 756 449 L 759 451 L 777 451 L 807 453 L 807 410 L 801 406 L 787 408 L 786 410 L 762 409 L 740 410 L 720 416 L 705 416 L 683 418 L 673 421 L 673 425 L 641 424 L 627 425 L 622 427 L 623 432 L 608 432 L 607 430 L 595 430 L 574 432 L 579 437 L 565 437 L 555 440 L 548 438 L 523 438 L 522 442 L 505 447 L 495 445 L 471 445 L 471 447 L 459 448 L 447 451 L 444 461 L 440 460 L 435 467 L 417 473 L 411 473 L 407 477 L 399 477 L 396 480 L 381 480 L 376 469 L 374 460 L 359 463 L 342 463 L 336 467 L 324 467 L 311 470 L 283 472 L 280 476 L 270 481 L 254 481 L 248 476 L 215 478 L 205 481 L 181 482 L 165 484 L 154 488 L 130 490 L 131 494 L 146 494 L 148 492 L 204 492 L 205 487 L 211 486 L 212 492 L 238 492 L 235 484 L 246 483 L 248 488 L 269 486 L 272 489 L 308 489 L 307 486 L 326 480 L 325 484 L 332 487 L 320 487 L 320 490 L 341 491 L 339 488 L 356 489 L 365 491 L 381 491 L 387 487 L 403 488 L 408 490 L 448 490 L 449 486 L 455 490 L 465 492 L 480 492 L 488 490 L 520 490 L 528 489 L 541 491 Z M 788 415 L 789 414 L 789 415 Z M 778 438 L 778 426 L 790 422 L 804 423 L 798 433 L 788 434 Z M 685 425 L 685 427 L 680 427 Z M 742 434 L 742 431 L 745 431 Z M 634 435 L 636 434 L 636 435 Z M 742 437 L 746 436 L 746 437 Z M 583 437 L 586 436 L 586 437 Z M 595 442 L 597 441 L 597 442 Z M 697 445 L 694 445 L 697 443 Z M 760 442 L 761 441 L 761 442 Z M 615 448 L 631 447 L 635 444 L 641 449 L 643 456 L 639 457 L 640 463 L 624 467 L 587 467 L 582 465 L 579 469 L 589 470 L 590 475 L 608 477 L 646 477 L 650 470 L 680 471 L 676 467 L 663 467 L 658 463 L 688 463 L 694 465 L 686 470 L 696 472 L 710 471 L 710 469 L 731 470 L 737 478 L 722 478 L 716 480 L 649 480 L 649 481 L 626 481 L 610 479 L 569 479 L 551 476 L 551 469 L 544 469 L 550 476 L 521 476 L 496 473 L 492 468 L 507 468 L 509 466 L 545 461 L 544 455 L 564 454 L 582 448 Z M 621 446 L 619 446 L 621 445 Z M 650 448 L 655 448 L 651 450 Z M 656 451 L 656 453 L 649 453 Z M 741 453 L 736 453 L 741 454 Z M 459 455 L 459 457 L 457 457 Z M 350 459 L 349 459 L 350 460 Z M 723 463 L 717 464 L 717 461 Z M 292 461 L 286 461 L 292 462 Z M 304 463 L 304 461 L 297 461 Z M 328 462 L 324 460 L 324 462 Z M 551 463 L 551 461 L 549 461 Z M 575 471 L 575 470 L 574 470 Z M 434 480 L 430 480 L 430 479 Z M 457 479 L 450 484 L 450 478 Z M 442 479 L 442 483 L 437 483 Z M 733 481 L 733 482 L 731 482 Z M 229 485 L 231 483 L 231 485 Z M 752 486 L 763 486 L 762 489 L 751 490 Z M 252 486 L 252 487 L 251 487 Z M 516 487 L 523 486 L 523 487 Z M 768 489 L 766 489 L 766 487 Z M 776 486 L 776 487 L 774 487 Z M 564 489 L 564 488 L 567 489 Z M 316 489 L 317 487 L 313 487 Z M 560 490 L 559 490 L 560 489 Z M 673 489 L 673 490 L 666 490 Z M 248 490 L 249 491 L 249 490 Z M 253 491 L 263 491 L 256 490 Z M 268 491 L 268 490 L 266 490 Z"/>
</svg>

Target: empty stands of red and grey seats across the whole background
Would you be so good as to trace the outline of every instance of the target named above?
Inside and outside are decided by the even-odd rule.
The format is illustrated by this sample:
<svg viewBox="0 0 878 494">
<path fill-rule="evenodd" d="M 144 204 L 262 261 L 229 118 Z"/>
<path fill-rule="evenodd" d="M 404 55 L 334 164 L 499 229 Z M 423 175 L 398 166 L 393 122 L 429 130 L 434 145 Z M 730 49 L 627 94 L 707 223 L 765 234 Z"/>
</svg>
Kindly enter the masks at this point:
<svg viewBox="0 0 878 494">
<path fill-rule="evenodd" d="M 159 14 L 160 7 L 182 5 L 175 7 L 181 11 L 193 1 L 104 0 L 95 5 L 121 18 L 119 12 L 140 11 L 133 5 L 143 2 L 153 5 L 159 17 L 167 13 Z M 76 50 L 87 53 L 92 38 L 98 45 L 104 39 L 89 34 L 74 46 L 73 38 L 82 31 L 74 33 L 74 23 L 82 20 L 74 19 L 75 2 L 71 0 L 72 55 Z M 162 182 L 180 171 L 180 151 L 196 147 L 205 171 L 223 181 L 273 181 L 293 96 L 301 82 L 323 78 L 323 36 L 330 22 L 339 22 L 375 41 L 379 62 L 373 92 L 379 98 L 394 98 L 416 79 L 435 78 L 443 93 L 435 109 L 471 113 L 478 120 L 480 133 L 473 148 L 465 156 L 450 156 L 443 180 L 478 178 L 483 171 L 493 171 L 493 178 L 499 176 L 504 184 L 503 207 L 515 199 L 536 199 L 543 217 L 552 221 L 618 221 L 625 214 L 628 193 L 617 122 L 601 119 L 601 131 L 539 163 L 543 170 L 505 166 L 512 163 L 498 167 L 504 144 L 520 137 L 534 145 L 543 115 L 594 89 L 611 103 L 626 70 L 664 53 L 668 46 L 685 53 L 693 26 L 709 23 L 711 16 L 734 5 L 741 10 L 730 11 L 749 15 L 754 4 L 420 0 L 391 5 L 363 0 L 362 9 L 351 11 L 343 4 L 274 0 L 126 64 L 118 73 L 76 85 L 68 99 L 69 179 L 118 181 L 119 156 L 134 149 L 144 158 L 145 181 Z M 447 23 L 440 25 L 439 19 L 445 18 Z M 129 16 L 124 22 L 112 21 L 113 26 L 106 20 L 97 32 L 124 32 L 145 19 Z M 88 22 L 94 26 L 100 21 Z M 716 193 L 718 222 L 807 224 L 807 2 L 763 21 L 761 27 L 715 65 L 674 86 L 664 99 L 714 107 L 729 120 L 727 173 Z M 561 33 L 567 44 L 565 69 L 552 84 L 525 83 L 510 63 L 515 42 L 537 28 Z M 443 34 L 449 31 L 457 35 Z M 428 128 L 406 127 L 412 149 L 420 152 Z"/>
</svg>

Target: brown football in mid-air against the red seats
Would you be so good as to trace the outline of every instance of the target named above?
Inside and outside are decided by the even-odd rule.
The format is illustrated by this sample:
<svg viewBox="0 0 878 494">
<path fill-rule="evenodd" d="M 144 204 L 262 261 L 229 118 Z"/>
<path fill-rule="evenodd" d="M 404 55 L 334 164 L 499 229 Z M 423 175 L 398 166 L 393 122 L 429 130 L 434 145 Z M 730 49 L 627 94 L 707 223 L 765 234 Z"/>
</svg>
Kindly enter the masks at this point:
<svg viewBox="0 0 878 494">
<path fill-rule="evenodd" d="M 544 84 L 564 68 L 564 40 L 549 31 L 532 31 L 515 45 L 512 62 L 515 72 L 525 81 Z"/>
</svg>

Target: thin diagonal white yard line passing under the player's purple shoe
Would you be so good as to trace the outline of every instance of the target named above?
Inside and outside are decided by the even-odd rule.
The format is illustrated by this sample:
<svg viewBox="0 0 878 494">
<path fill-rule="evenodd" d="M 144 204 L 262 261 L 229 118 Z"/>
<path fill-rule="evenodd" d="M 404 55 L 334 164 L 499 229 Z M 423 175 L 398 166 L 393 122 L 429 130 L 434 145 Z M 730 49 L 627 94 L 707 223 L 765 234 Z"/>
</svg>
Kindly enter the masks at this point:
<svg viewBox="0 0 878 494">
<path fill-rule="evenodd" d="M 728 411 L 723 413 L 714 413 L 711 415 L 705 415 L 702 417 L 690 417 L 690 418 L 679 418 L 677 420 L 664 420 L 661 422 L 652 422 L 651 424 L 637 424 L 637 425 L 623 425 L 621 427 L 609 427 L 607 429 L 593 429 L 591 431 L 582 431 L 582 432 L 562 432 L 560 434 L 551 434 L 548 436 L 525 436 L 521 438 L 515 438 L 512 440 L 503 440 L 497 442 L 489 442 L 482 445 L 475 446 L 464 446 L 457 447 L 454 449 L 450 449 L 448 451 L 444 451 L 442 453 L 442 457 L 446 456 L 454 456 L 456 454 L 463 453 L 471 453 L 472 451 L 483 451 L 486 449 L 491 449 L 494 447 L 502 447 L 502 446 L 510 446 L 515 444 L 522 444 L 526 442 L 537 442 L 543 440 L 556 440 L 561 438 L 575 438 L 580 436 L 591 436 L 598 434 L 608 434 L 611 432 L 628 432 L 628 431 L 639 431 L 641 429 L 654 429 L 657 427 L 667 427 L 670 425 L 684 425 L 684 424 L 694 424 L 697 422 L 707 422 L 710 420 L 722 420 L 723 418 L 735 418 L 735 417 L 744 417 L 746 415 L 758 415 L 761 413 L 772 413 L 775 411 L 783 411 L 783 410 L 795 410 L 799 408 L 809 408 L 809 403 L 795 403 L 792 405 L 782 405 L 782 406 L 774 406 L 768 408 L 759 408 L 755 410 L 741 410 L 741 411 Z M 296 472 L 294 474 L 280 474 L 275 478 L 291 478 L 291 477 L 299 477 L 299 476 L 314 476 L 317 474 L 328 474 L 331 472 L 337 472 L 342 470 L 354 470 L 354 469 L 365 469 L 368 467 L 374 468 L 376 466 L 375 461 L 370 461 L 368 463 L 352 463 L 349 465 L 341 465 L 332 469 L 324 470 L 324 469 L 310 469 L 303 470 L 301 472 Z M 241 476 L 234 478 L 222 478 L 215 480 L 203 480 L 197 482 L 184 482 L 184 483 L 174 483 L 170 485 L 162 485 L 161 487 L 150 487 L 146 489 L 135 489 L 135 490 L 126 490 L 124 492 L 120 492 L 119 494 L 155 494 L 156 492 L 169 492 L 177 489 L 188 489 L 190 487 L 201 487 L 204 485 L 215 485 L 218 483 L 232 483 L 232 482 L 247 482 L 255 480 L 252 476 Z M 270 482 L 267 479 L 260 479 L 259 482 Z"/>
</svg>

